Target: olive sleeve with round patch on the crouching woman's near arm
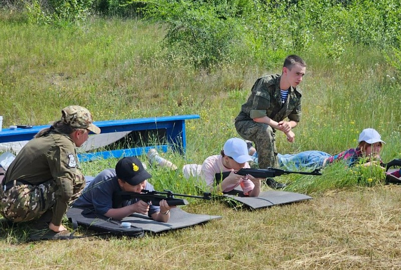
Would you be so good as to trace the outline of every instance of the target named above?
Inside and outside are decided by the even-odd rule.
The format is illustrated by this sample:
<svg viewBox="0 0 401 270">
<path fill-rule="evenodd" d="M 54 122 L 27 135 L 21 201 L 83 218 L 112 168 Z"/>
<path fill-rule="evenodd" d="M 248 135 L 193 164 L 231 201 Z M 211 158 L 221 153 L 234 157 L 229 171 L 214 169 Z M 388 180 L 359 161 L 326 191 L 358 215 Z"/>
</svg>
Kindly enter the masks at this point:
<svg viewBox="0 0 401 270">
<path fill-rule="evenodd" d="M 83 186 L 84 176 L 78 166 L 78 158 L 75 146 L 55 145 L 48 153 L 48 162 L 53 179 L 56 181 L 58 190 L 55 194 L 53 206 L 52 223 L 56 226 L 61 224 L 67 211 L 68 203 L 74 192 L 75 186 Z"/>
</svg>

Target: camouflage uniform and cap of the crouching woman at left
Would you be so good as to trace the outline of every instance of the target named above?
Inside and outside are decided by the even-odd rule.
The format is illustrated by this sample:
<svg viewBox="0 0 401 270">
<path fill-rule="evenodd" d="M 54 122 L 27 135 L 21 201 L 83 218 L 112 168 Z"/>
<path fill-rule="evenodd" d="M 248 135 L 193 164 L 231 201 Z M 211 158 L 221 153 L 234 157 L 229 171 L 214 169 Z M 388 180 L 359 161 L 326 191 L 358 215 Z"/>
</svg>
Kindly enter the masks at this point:
<svg viewBox="0 0 401 270">
<path fill-rule="evenodd" d="M 100 133 L 86 108 L 68 106 L 62 113 L 63 124 Z M 51 222 L 59 226 L 85 186 L 74 141 L 49 130 L 24 146 L 0 185 L 0 213 L 11 221 L 30 221 L 51 210 Z"/>
</svg>

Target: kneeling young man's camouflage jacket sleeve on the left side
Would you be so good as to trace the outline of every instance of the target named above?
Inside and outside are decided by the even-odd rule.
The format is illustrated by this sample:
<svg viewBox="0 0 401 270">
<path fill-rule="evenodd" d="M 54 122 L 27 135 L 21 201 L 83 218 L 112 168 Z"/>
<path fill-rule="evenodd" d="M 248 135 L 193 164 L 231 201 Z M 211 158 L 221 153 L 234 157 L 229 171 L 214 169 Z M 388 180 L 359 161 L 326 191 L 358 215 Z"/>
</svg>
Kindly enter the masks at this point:
<svg viewBox="0 0 401 270">
<path fill-rule="evenodd" d="M 270 87 L 267 87 L 263 78 L 255 83 L 252 89 L 255 93 L 250 113 L 252 119 L 267 116 L 266 110 L 270 107 L 270 91 Z"/>
</svg>

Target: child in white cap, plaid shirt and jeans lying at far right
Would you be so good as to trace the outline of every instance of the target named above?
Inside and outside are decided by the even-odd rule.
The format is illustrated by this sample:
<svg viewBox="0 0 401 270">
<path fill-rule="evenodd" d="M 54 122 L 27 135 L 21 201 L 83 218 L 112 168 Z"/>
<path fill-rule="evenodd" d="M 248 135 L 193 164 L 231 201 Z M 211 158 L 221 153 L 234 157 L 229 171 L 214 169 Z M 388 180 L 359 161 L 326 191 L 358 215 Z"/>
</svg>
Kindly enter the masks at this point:
<svg viewBox="0 0 401 270">
<path fill-rule="evenodd" d="M 321 151 L 304 151 L 298 154 L 278 154 L 281 169 L 299 170 L 300 168 L 322 168 L 336 161 L 345 160 L 349 167 L 364 162 L 364 166 L 382 163 L 380 151 L 382 145 L 380 134 L 373 128 L 365 128 L 359 134 L 358 146 L 345 150 L 336 155 L 330 155 Z M 249 149 L 252 151 L 252 148 Z M 258 162 L 257 152 L 252 155 L 255 163 Z"/>
</svg>

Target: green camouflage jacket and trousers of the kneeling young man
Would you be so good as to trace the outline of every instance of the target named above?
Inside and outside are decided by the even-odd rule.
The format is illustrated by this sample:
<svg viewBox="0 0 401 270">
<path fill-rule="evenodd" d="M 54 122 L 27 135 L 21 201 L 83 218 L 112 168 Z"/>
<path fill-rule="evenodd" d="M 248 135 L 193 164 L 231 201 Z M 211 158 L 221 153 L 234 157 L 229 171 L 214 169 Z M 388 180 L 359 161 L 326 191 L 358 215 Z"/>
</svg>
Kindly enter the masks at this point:
<svg viewBox="0 0 401 270">
<path fill-rule="evenodd" d="M 280 97 L 280 78 L 279 74 L 259 78 L 235 119 L 238 133 L 245 140 L 255 143 L 261 169 L 278 168 L 276 130 L 268 124 L 255 122 L 253 118 L 268 116 L 277 122 L 286 117 L 296 122 L 301 119 L 301 93 L 291 87 L 287 101 L 283 104 Z"/>
</svg>

